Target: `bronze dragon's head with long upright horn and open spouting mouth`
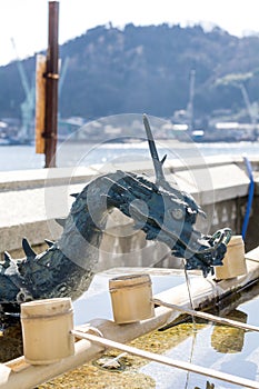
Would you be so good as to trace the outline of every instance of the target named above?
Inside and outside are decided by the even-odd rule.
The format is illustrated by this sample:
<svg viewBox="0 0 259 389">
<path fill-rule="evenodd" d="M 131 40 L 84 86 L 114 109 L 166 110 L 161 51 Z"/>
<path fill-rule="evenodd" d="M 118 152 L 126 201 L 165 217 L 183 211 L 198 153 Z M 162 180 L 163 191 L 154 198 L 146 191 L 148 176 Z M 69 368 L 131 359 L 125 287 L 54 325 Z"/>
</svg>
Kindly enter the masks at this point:
<svg viewBox="0 0 259 389">
<path fill-rule="evenodd" d="M 176 257 L 186 259 L 186 269 L 200 269 L 206 277 L 213 272 L 215 266 L 221 266 L 227 250 L 227 243 L 231 238 L 231 230 L 225 228 L 212 236 L 202 235 L 195 230 L 193 226 L 198 215 L 206 218 L 206 213 L 197 205 L 193 197 L 180 191 L 170 184 L 163 174 L 162 164 L 166 160 L 159 160 L 156 143 L 149 126 L 147 116 L 143 116 L 149 149 L 156 172 L 157 193 L 162 203 L 162 222 L 159 223 L 159 239 L 169 243 Z M 161 206 L 160 206 L 161 207 Z M 161 218 L 160 218 L 161 219 Z M 156 218 L 156 222 L 159 219 Z"/>
</svg>

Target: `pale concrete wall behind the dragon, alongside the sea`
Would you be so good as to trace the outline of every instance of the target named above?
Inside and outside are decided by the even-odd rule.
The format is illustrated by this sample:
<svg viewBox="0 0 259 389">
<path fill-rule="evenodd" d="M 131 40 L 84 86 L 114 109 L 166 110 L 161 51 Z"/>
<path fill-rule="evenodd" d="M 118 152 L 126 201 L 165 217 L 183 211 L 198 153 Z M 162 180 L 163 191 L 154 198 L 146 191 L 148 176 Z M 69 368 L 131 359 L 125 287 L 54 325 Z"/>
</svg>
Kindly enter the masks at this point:
<svg viewBox="0 0 259 389">
<path fill-rule="evenodd" d="M 253 162 L 255 170 L 258 163 Z M 153 174 L 151 162 L 107 166 L 106 171 L 117 169 Z M 197 228 L 215 232 L 222 227 L 240 233 L 246 211 L 249 179 L 242 161 L 231 158 L 190 160 L 185 164 L 167 161 L 165 171 L 169 181 L 175 180 L 181 190 L 192 193 L 207 212 L 207 220 L 198 220 Z M 101 173 L 103 173 L 103 168 Z M 44 239 L 56 240 L 62 229 L 54 218 L 67 217 L 73 198 L 84 184 L 100 173 L 99 166 L 77 169 L 41 169 L 0 173 L 0 252 L 10 251 L 22 258 L 21 239 L 27 237 L 38 251 Z M 256 173 L 257 174 L 257 173 Z M 257 226 L 258 191 L 246 239 L 246 248 L 258 246 Z M 258 230 L 258 228 L 257 228 Z M 101 245 L 100 269 L 114 266 L 178 266 L 162 243 L 147 242 L 142 231 L 132 229 L 132 221 L 116 210 L 108 221 Z"/>
</svg>

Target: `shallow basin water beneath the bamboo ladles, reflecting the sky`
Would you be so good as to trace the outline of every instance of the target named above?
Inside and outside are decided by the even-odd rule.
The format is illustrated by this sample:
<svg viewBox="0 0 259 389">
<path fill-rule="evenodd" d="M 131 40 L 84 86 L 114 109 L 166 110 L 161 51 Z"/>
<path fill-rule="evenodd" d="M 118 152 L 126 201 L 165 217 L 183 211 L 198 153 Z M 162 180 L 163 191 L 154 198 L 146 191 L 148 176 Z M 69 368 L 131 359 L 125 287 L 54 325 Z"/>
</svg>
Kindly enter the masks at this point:
<svg viewBox="0 0 259 389">
<path fill-rule="evenodd" d="M 132 271 L 133 270 L 133 271 Z M 74 306 L 74 323 L 86 323 L 94 318 L 112 320 L 109 278 L 119 273 L 136 272 L 136 269 L 113 269 L 97 275 L 89 289 Z M 146 269 L 141 269 L 142 272 Z M 138 270 L 140 271 L 140 270 Z M 181 272 L 169 269 L 148 270 L 152 279 L 153 295 L 186 282 Z M 197 277 L 196 275 L 191 277 Z M 229 296 L 218 302 L 215 315 L 259 326 L 259 286 Z M 0 341 L 1 343 L 1 341 Z M 245 332 L 237 328 L 196 319 L 181 315 L 173 326 L 152 331 L 130 342 L 140 349 L 163 353 L 177 360 L 192 362 L 218 371 L 259 380 L 259 333 Z M 149 362 L 120 351 L 107 351 L 98 360 L 67 372 L 44 385 L 43 388 L 189 388 L 221 389 L 240 388 L 237 385 L 210 379 L 197 373 Z"/>
</svg>

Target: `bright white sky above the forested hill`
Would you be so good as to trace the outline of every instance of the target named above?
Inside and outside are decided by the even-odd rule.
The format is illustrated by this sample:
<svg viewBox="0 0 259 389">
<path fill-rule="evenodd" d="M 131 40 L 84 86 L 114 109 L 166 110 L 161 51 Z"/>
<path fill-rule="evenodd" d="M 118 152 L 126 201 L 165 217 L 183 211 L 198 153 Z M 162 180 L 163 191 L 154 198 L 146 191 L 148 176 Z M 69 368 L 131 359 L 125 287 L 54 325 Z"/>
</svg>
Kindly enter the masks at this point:
<svg viewBox="0 0 259 389">
<path fill-rule="evenodd" d="M 0 0 L 0 66 L 48 46 L 48 0 Z M 259 0 L 59 0 L 59 43 L 96 26 L 202 23 L 259 33 Z M 12 44 L 14 42 L 14 47 Z"/>
</svg>

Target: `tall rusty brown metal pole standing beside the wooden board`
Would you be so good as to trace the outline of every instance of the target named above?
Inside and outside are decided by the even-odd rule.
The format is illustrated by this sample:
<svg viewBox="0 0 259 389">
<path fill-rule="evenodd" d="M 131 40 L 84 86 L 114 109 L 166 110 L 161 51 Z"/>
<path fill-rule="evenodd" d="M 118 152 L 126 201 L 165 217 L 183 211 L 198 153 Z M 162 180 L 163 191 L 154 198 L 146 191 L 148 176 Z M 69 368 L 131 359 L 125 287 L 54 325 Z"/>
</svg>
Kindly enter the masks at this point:
<svg viewBox="0 0 259 389">
<path fill-rule="evenodd" d="M 59 81 L 59 2 L 49 1 L 49 43 L 46 70 L 46 120 L 44 156 L 46 168 L 56 167 L 58 134 L 58 81 Z"/>
</svg>

